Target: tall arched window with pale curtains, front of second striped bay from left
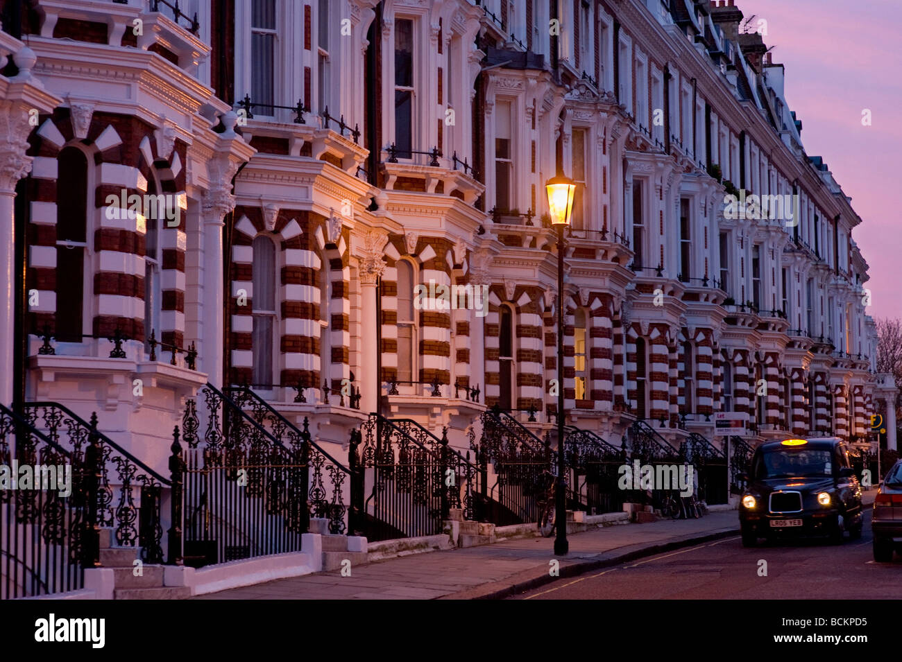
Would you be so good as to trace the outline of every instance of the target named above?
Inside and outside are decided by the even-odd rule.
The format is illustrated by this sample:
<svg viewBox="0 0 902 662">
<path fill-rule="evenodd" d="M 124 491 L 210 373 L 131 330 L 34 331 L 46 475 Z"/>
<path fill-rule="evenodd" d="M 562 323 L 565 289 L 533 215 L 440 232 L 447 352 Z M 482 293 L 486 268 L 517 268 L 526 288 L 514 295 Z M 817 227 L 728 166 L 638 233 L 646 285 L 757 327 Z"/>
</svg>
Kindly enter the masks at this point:
<svg viewBox="0 0 902 662">
<path fill-rule="evenodd" d="M 253 385 L 272 385 L 276 330 L 276 247 L 269 237 L 253 240 Z"/>
</svg>

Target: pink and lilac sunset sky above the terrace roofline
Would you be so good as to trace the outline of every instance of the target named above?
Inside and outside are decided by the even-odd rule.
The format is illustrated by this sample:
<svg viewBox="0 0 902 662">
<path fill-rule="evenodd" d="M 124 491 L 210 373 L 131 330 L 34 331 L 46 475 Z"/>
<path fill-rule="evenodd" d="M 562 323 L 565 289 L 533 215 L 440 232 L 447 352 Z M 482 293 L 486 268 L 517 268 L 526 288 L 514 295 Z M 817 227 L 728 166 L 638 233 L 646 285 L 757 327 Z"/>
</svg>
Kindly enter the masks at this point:
<svg viewBox="0 0 902 662">
<path fill-rule="evenodd" d="M 736 0 L 767 21 L 764 42 L 786 66 L 789 108 L 802 143 L 824 157 L 861 216 L 852 239 L 870 265 L 867 312 L 902 318 L 902 31 L 898 0 Z M 871 125 L 861 112 L 871 111 Z"/>
</svg>

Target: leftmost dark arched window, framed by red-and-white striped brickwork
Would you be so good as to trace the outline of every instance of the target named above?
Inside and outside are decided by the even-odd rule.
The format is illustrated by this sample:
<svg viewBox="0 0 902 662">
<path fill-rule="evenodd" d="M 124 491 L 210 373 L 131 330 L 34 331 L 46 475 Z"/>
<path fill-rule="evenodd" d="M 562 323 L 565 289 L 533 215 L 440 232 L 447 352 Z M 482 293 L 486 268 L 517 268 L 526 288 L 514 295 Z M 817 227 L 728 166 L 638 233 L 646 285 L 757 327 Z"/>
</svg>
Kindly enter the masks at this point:
<svg viewBox="0 0 902 662">
<path fill-rule="evenodd" d="M 87 259 L 87 156 L 67 147 L 58 157 L 56 336 L 81 342 L 85 328 Z M 87 290 L 89 291 L 89 290 Z"/>
</svg>

